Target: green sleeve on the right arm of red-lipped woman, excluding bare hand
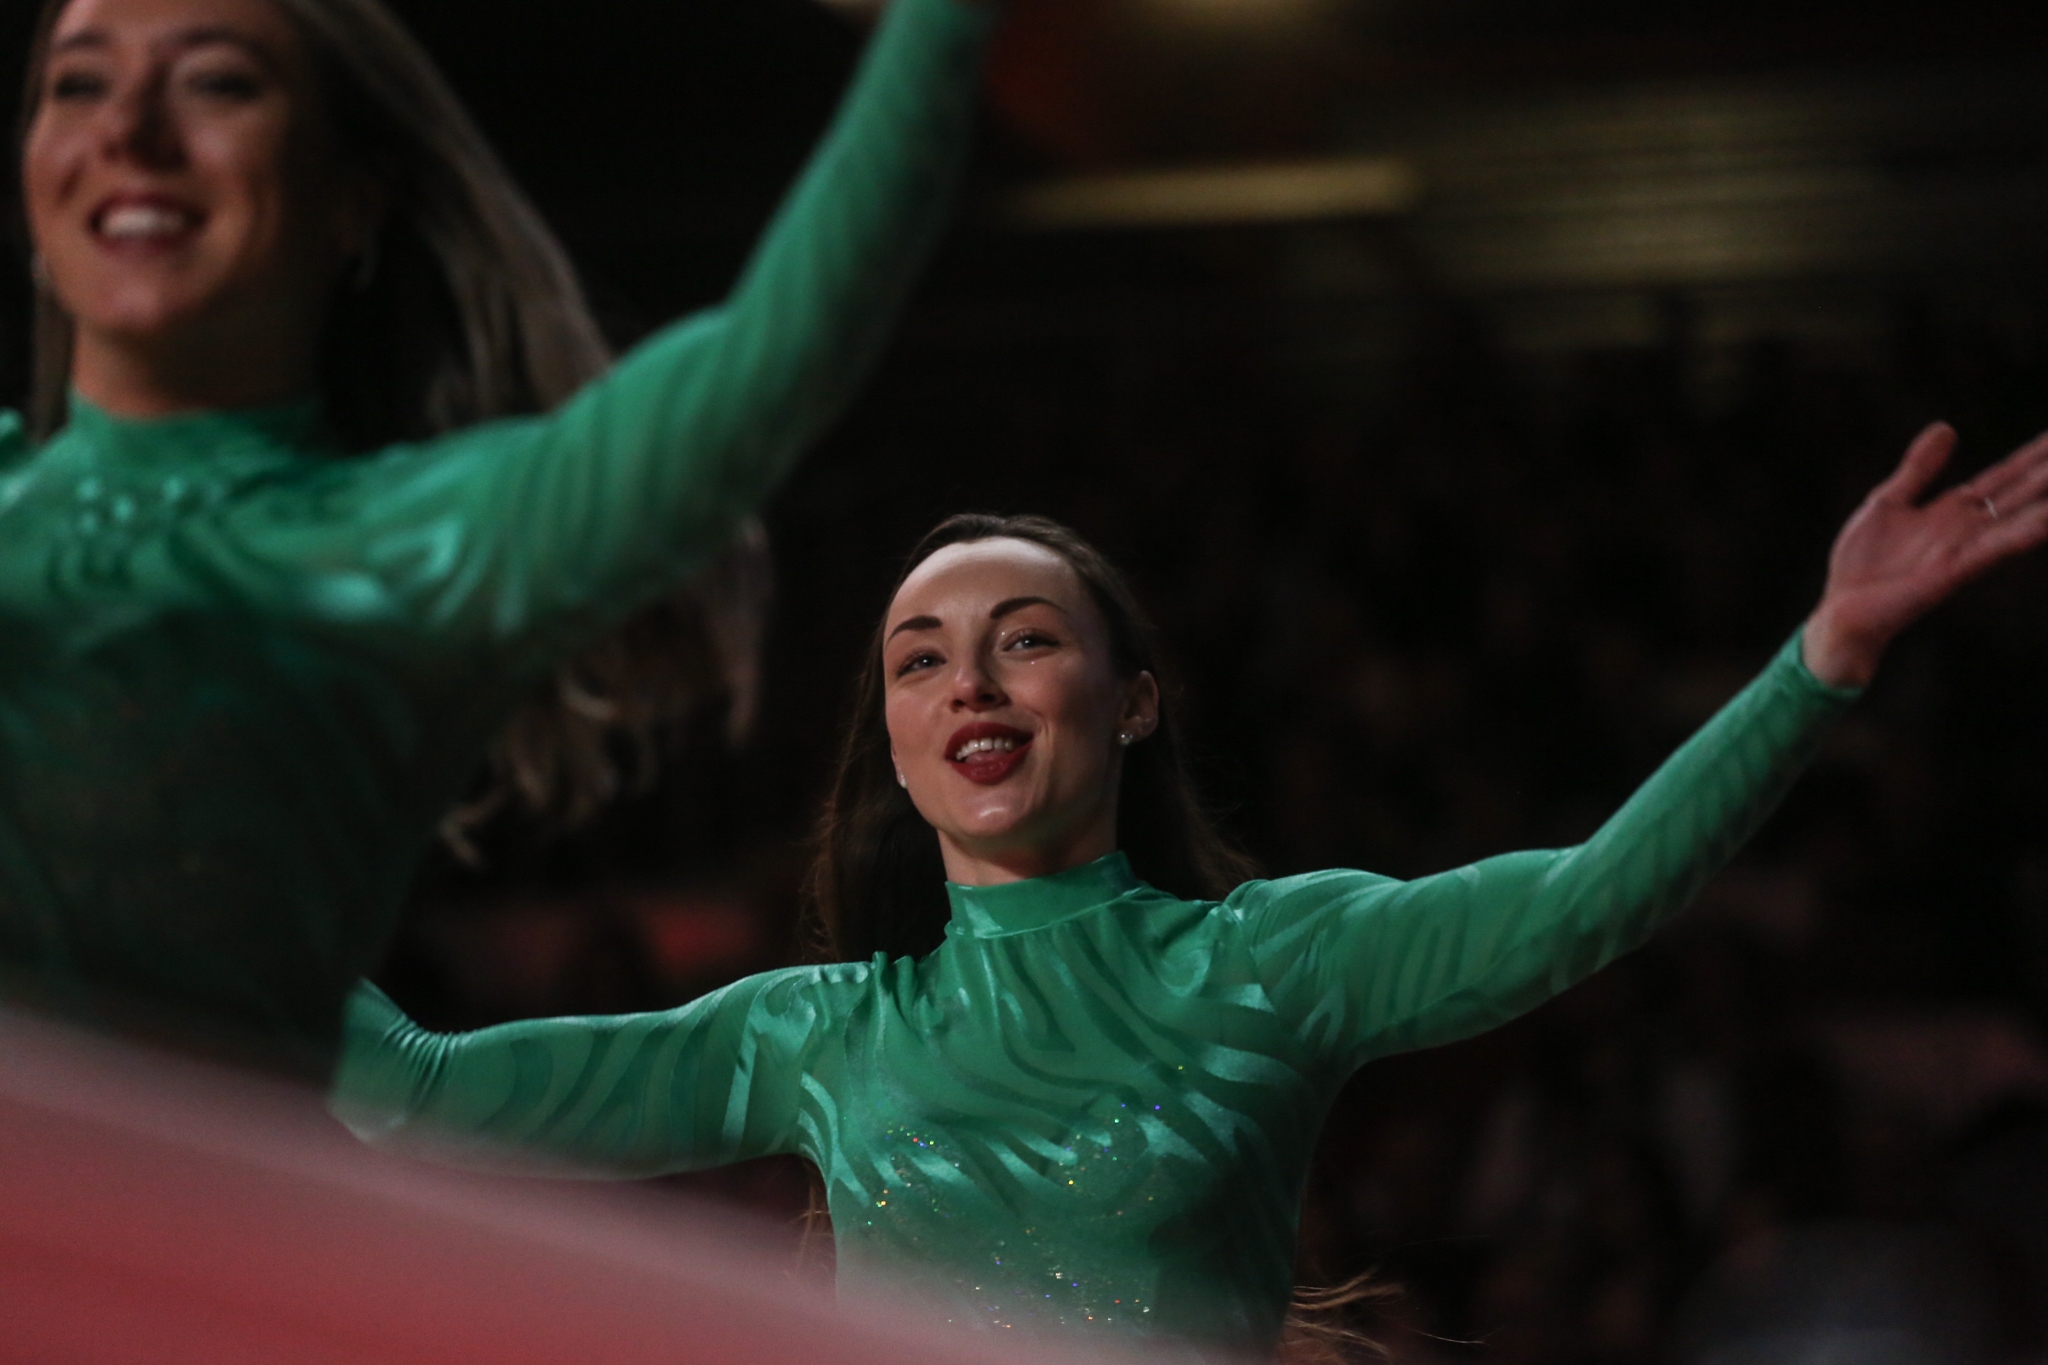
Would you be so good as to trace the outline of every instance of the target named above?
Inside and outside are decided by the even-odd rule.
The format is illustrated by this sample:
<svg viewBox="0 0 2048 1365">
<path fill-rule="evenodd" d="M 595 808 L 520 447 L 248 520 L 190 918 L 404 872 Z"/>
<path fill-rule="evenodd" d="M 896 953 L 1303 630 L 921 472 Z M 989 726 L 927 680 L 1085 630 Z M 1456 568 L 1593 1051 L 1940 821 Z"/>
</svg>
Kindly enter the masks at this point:
<svg viewBox="0 0 2048 1365">
<path fill-rule="evenodd" d="M 1851 696 L 1817 681 L 1794 639 L 1577 847 L 1413 882 L 1313 872 L 1239 888 L 1268 993 L 1341 1070 L 1534 1009 L 1686 905 Z"/>
</svg>

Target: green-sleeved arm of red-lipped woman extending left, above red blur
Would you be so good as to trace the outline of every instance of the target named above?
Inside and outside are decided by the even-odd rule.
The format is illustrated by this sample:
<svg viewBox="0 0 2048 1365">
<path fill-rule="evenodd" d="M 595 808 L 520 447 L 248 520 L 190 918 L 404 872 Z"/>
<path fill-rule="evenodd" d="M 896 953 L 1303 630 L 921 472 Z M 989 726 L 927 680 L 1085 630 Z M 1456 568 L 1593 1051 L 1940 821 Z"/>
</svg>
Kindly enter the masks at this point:
<svg viewBox="0 0 2048 1365">
<path fill-rule="evenodd" d="M 791 1152 L 815 984 L 770 972 L 662 1013 L 428 1033 L 365 982 L 330 1105 L 367 1142 L 475 1166 L 645 1177 Z"/>
</svg>

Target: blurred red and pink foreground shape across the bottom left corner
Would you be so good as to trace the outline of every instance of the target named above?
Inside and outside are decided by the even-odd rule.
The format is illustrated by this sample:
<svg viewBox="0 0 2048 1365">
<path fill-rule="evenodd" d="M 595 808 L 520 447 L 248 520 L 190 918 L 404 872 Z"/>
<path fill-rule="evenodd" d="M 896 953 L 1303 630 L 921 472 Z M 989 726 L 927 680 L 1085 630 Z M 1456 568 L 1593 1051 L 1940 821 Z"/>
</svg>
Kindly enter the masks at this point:
<svg viewBox="0 0 2048 1365">
<path fill-rule="evenodd" d="M 383 1156 L 309 1091 L 14 1011 L 0 1306 L 37 1365 L 1026 1359 L 840 1312 L 731 1216 Z"/>
</svg>

